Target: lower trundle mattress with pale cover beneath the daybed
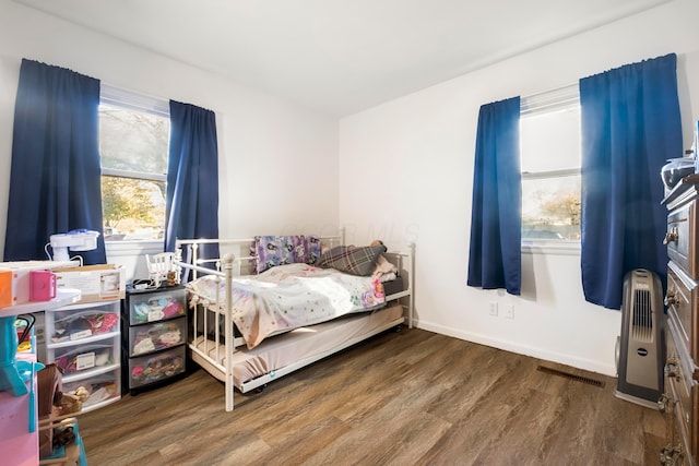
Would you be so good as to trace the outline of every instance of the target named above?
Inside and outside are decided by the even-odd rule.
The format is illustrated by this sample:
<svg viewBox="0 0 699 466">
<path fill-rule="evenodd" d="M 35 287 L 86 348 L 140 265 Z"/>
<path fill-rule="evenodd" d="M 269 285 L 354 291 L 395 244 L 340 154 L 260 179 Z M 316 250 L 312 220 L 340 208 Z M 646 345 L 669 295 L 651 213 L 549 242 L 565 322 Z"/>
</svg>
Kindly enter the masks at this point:
<svg viewBox="0 0 699 466">
<path fill-rule="evenodd" d="M 392 306 L 364 314 L 352 314 L 324 322 L 308 327 L 301 327 L 283 335 L 268 338 L 264 344 L 252 349 L 236 348 L 233 356 L 234 385 L 241 392 L 246 392 L 246 382 L 252 381 L 262 375 L 274 378 L 275 371 L 335 353 L 348 347 L 365 337 L 375 335 L 383 330 L 390 328 L 403 321 L 403 308 Z M 208 354 L 215 360 L 223 360 L 224 346 L 218 346 L 217 351 L 214 343 L 204 342 L 200 336 L 194 344 L 200 350 L 204 344 L 208 345 Z M 221 358 L 216 358 L 216 353 Z M 206 366 L 203 358 L 192 351 L 192 359 L 196 362 Z M 308 362 L 306 362 L 308 363 Z M 225 362 L 222 362 L 225 365 Z M 301 363 L 300 366 L 304 366 Z M 211 367 L 209 365 L 209 367 Z M 220 372 L 220 371 L 218 371 Z M 221 378 L 222 373 L 212 374 Z"/>
</svg>

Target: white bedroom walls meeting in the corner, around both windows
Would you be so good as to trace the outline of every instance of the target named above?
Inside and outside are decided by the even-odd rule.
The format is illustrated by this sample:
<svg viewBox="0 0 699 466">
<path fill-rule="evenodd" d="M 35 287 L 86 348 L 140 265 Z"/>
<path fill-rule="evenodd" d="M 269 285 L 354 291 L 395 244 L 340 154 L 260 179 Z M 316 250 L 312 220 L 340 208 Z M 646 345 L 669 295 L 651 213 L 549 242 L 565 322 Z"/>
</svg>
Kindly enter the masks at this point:
<svg viewBox="0 0 699 466">
<path fill-rule="evenodd" d="M 9 184 L 12 109 L 23 57 L 146 95 L 191 101 L 216 112 L 221 171 L 236 180 L 221 184 L 222 237 L 300 229 L 328 234 L 343 225 L 351 242 L 375 237 L 387 243 L 415 241 L 420 328 L 615 374 L 620 316 L 584 301 L 579 256 L 523 254 L 529 292 L 520 298 L 465 286 L 477 109 L 674 51 L 679 58 L 685 145 L 690 146 L 691 122 L 699 119 L 696 1 L 665 2 L 342 117 L 300 107 L 16 2 L 3 0 L 1 9 L 1 186 Z M 269 170 L 271 166 L 280 169 Z M 323 174 L 312 182 L 305 181 L 310 166 Z M 380 174 L 371 189 L 355 189 L 357 167 Z M 275 188 L 259 190 L 259 178 L 240 176 L 241 170 L 263 174 L 264 184 Z M 7 212 L 7 190 L 0 193 L 0 214 Z M 0 215 L 0 242 L 4 222 Z M 514 319 L 491 318 L 491 301 L 500 309 L 513 304 Z"/>
</svg>

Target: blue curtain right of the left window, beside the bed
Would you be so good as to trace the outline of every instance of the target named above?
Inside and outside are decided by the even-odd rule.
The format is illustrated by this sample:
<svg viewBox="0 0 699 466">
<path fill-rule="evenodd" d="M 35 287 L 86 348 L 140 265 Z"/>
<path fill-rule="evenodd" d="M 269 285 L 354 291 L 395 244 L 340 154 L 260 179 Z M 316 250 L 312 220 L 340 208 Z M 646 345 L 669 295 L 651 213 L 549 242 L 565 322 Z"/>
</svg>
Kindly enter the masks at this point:
<svg viewBox="0 0 699 466">
<path fill-rule="evenodd" d="M 218 238 L 218 143 L 216 116 L 190 104 L 170 100 L 165 251 L 175 241 Z M 218 248 L 200 249 L 218 256 Z"/>
</svg>

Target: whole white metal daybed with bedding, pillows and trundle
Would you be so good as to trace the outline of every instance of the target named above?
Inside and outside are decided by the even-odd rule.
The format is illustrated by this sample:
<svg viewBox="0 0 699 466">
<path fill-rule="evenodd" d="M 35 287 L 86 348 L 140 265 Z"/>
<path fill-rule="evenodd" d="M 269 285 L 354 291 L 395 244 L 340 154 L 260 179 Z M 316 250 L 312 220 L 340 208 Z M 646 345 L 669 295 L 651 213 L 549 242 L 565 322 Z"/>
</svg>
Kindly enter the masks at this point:
<svg viewBox="0 0 699 466">
<path fill-rule="evenodd" d="M 342 243 L 344 235 L 178 240 L 191 357 L 225 382 L 226 410 L 234 387 L 260 390 L 391 327 L 412 327 L 414 244 L 391 252 Z M 199 259 L 212 244 L 223 259 Z"/>
</svg>

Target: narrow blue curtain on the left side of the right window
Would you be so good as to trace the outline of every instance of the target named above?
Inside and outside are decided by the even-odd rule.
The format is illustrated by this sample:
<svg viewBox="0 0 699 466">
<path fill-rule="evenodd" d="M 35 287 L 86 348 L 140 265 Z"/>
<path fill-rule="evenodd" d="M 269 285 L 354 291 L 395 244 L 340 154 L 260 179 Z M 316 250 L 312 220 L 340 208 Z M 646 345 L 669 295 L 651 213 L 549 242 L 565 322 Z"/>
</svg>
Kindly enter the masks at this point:
<svg viewBox="0 0 699 466">
<path fill-rule="evenodd" d="M 521 258 L 520 98 L 478 113 L 467 285 L 519 295 Z"/>
</svg>

